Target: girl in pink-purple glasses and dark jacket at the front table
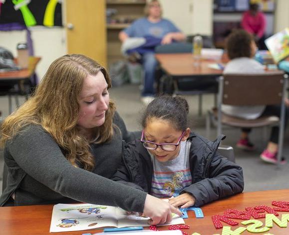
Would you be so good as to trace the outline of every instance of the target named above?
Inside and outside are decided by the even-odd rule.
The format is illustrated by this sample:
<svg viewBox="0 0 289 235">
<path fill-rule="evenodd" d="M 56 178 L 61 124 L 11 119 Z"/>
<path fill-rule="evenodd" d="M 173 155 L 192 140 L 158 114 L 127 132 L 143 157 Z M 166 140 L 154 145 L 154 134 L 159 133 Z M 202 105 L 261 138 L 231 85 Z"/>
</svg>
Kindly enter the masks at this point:
<svg viewBox="0 0 289 235">
<path fill-rule="evenodd" d="M 181 97 L 162 96 L 146 108 L 141 140 L 124 145 L 113 180 L 139 188 L 182 208 L 243 191 L 240 166 L 218 152 L 224 136 L 212 142 L 190 133 L 189 106 Z"/>
</svg>

